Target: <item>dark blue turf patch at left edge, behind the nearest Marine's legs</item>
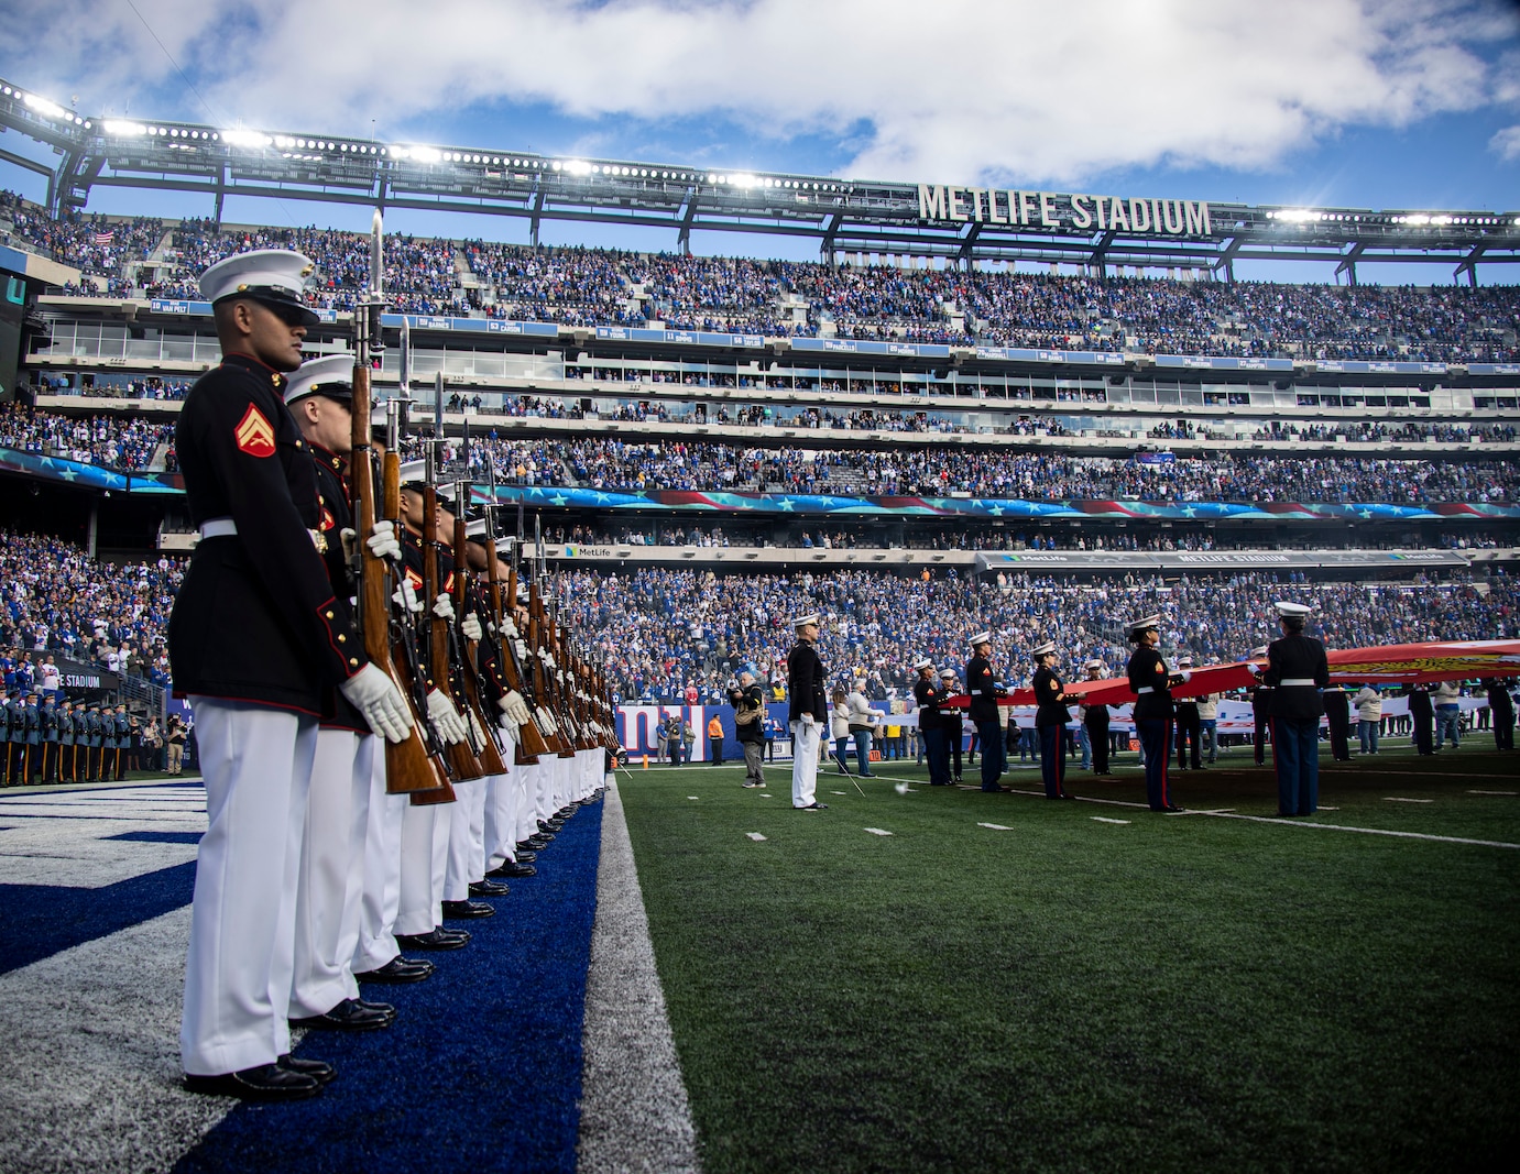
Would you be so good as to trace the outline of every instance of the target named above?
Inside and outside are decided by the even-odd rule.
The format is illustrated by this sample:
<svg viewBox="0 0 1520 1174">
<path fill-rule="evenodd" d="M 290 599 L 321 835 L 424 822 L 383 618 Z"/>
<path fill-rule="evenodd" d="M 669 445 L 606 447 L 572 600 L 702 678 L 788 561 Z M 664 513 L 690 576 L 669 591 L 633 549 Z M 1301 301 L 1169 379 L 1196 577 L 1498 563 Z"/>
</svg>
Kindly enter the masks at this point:
<svg viewBox="0 0 1520 1174">
<path fill-rule="evenodd" d="M 0 974 L 188 905 L 195 861 L 103 888 L 0 884 Z"/>
</svg>

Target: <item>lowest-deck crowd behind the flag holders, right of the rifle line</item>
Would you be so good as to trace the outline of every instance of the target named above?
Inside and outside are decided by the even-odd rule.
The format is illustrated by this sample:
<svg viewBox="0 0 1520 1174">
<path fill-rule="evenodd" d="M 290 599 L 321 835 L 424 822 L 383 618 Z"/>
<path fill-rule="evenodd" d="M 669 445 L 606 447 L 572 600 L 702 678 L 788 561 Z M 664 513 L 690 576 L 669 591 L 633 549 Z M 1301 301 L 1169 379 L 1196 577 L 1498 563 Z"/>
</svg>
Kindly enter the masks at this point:
<svg viewBox="0 0 1520 1174">
<path fill-rule="evenodd" d="M 625 699 L 670 696 L 695 685 L 720 697 L 740 668 L 784 679 L 789 617 L 827 614 L 818 641 L 831 679 L 862 670 L 871 688 L 903 693 L 912 662 L 932 656 L 961 671 L 965 638 L 983 627 L 1012 682 L 1028 680 L 1029 649 L 1055 639 L 1070 671 L 1088 656 L 1122 673 L 1129 655 L 1122 624 L 1158 611 L 1163 647 L 1199 661 L 1236 661 L 1277 632 L 1272 600 L 1316 608 L 1310 635 L 1328 647 L 1520 635 L 1520 591 L 1494 579 L 1488 592 L 1455 586 L 1366 588 L 1283 582 L 1277 574 L 1181 580 L 1116 577 L 1096 583 L 999 576 L 974 583 L 953 573 L 904 579 L 872 571 L 717 576 L 699 570 L 579 571 L 567 576 L 568 618 L 590 633 Z"/>
</svg>

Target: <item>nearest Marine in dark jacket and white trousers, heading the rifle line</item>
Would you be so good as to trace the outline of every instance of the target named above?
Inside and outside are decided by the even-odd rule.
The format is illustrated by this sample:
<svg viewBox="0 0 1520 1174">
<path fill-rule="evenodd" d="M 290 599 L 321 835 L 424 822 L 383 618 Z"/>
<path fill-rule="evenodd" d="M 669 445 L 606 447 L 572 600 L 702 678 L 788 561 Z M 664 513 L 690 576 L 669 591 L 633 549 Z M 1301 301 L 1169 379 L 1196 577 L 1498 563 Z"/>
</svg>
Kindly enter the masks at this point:
<svg viewBox="0 0 1520 1174">
<path fill-rule="evenodd" d="M 222 363 L 190 389 L 175 430 L 201 542 L 169 620 L 169 656 L 195 712 L 208 819 L 179 1054 L 192 1092 L 266 1101 L 310 1097 L 333 1077 L 289 1056 L 316 720 L 336 686 L 375 732 L 401 740 L 412 724 L 333 592 L 316 474 L 283 399 L 318 320 L 301 301 L 312 269 L 277 249 L 207 269 Z"/>
</svg>

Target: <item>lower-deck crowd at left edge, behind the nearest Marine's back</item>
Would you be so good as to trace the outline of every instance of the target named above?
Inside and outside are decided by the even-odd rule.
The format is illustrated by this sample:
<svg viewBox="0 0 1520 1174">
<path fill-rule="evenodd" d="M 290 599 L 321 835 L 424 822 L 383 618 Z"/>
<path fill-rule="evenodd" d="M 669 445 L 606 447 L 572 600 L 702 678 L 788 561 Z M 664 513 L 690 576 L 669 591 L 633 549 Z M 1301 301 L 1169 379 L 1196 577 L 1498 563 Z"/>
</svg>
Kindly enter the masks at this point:
<svg viewBox="0 0 1520 1174">
<path fill-rule="evenodd" d="M 166 633 L 184 563 L 111 563 L 47 535 L 0 530 L 0 649 L 56 653 L 169 683 Z"/>
</svg>

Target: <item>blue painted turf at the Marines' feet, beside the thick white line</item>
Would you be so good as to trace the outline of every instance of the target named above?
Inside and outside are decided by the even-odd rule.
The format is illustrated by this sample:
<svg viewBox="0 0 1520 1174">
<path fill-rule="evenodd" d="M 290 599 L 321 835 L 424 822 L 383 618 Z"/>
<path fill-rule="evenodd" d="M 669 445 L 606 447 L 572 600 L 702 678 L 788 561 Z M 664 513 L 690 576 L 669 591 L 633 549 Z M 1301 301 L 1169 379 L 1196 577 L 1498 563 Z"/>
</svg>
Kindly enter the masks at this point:
<svg viewBox="0 0 1520 1174">
<path fill-rule="evenodd" d="M 474 940 L 427 954 L 438 974 L 365 986 L 397 1024 L 312 1031 L 296 1054 L 337 1071 L 319 1097 L 239 1104 L 175 1174 L 575 1171 L 581 1019 L 596 916 L 602 805 L 582 808 L 512 881 L 496 916 L 450 922 Z"/>
</svg>

